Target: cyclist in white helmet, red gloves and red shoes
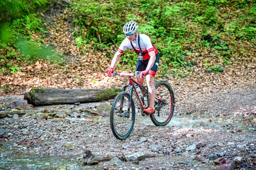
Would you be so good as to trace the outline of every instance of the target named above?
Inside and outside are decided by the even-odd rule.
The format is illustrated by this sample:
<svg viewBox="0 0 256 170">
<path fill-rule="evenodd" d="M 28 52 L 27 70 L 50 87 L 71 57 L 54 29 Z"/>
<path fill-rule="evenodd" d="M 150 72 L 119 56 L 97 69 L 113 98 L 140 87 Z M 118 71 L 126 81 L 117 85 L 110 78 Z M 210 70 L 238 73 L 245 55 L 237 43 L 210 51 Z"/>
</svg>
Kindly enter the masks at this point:
<svg viewBox="0 0 256 170">
<path fill-rule="evenodd" d="M 143 111 L 151 114 L 155 112 L 154 103 L 156 88 L 154 86 L 154 77 L 158 68 L 159 53 L 150 37 L 145 34 L 138 34 L 138 28 L 137 23 L 134 21 L 125 23 L 123 26 L 123 33 L 126 35 L 126 38 L 122 41 L 118 51 L 112 59 L 110 67 L 106 71 L 108 72 L 108 76 L 111 76 L 123 51 L 126 50 L 126 48 L 133 50 L 138 55 L 136 75 L 140 72 L 139 77 L 136 77 L 136 81 L 138 84 L 143 85 L 143 76 L 146 76 L 148 94 L 150 95 L 150 106 Z M 147 75 L 148 72 L 149 74 Z"/>
</svg>

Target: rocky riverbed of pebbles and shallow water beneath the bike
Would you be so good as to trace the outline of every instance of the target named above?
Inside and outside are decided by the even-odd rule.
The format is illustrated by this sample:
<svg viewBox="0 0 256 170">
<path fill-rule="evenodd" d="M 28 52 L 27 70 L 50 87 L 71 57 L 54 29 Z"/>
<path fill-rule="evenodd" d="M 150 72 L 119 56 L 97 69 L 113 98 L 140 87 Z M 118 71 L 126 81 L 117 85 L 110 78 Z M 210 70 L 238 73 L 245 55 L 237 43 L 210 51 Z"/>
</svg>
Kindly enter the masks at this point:
<svg viewBox="0 0 256 170">
<path fill-rule="evenodd" d="M 25 114 L 0 119 L 0 169 L 255 169 L 256 90 L 247 87 L 176 95 L 165 127 L 137 110 L 126 140 L 111 132 L 112 101 L 22 108 L 23 95 L 1 96 L 1 113 Z"/>
</svg>

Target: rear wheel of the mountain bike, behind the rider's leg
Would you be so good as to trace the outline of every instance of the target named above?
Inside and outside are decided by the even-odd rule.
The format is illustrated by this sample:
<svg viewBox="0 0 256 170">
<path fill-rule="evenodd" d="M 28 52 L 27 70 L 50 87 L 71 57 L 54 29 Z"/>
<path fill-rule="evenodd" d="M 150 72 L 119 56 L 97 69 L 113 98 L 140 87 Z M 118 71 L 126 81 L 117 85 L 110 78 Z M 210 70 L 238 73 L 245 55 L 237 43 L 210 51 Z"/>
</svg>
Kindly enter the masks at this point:
<svg viewBox="0 0 256 170">
<path fill-rule="evenodd" d="M 174 114 L 174 91 L 166 81 L 158 81 L 155 84 L 156 99 L 155 113 L 150 115 L 152 122 L 156 126 L 166 126 Z"/>
</svg>

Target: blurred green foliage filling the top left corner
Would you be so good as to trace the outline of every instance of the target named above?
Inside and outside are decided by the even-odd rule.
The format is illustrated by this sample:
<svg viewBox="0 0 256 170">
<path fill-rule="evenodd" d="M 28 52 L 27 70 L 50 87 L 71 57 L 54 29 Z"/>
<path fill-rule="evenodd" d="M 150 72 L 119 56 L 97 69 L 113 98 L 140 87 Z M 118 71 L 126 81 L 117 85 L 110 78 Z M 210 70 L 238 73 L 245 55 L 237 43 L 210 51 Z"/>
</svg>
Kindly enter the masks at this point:
<svg viewBox="0 0 256 170">
<path fill-rule="evenodd" d="M 1 56 L 2 71 L 9 69 L 11 74 L 15 74 L 20 69 L 11 64 L 11 60 L 49 59 L 51 62 L 62 62 L 63 59 L 52 52 L 52 48 L 42 47 L 44 45 L 31 41 L 34 33 L 47 33 L 41 28 L 43 20 L 34 12 L 38 12 L 39 7 L 47 7 L 48 3 L 48 0 L 0 2 L 0 23 L 3 22 L 0 25 L 0 47 L 7 50 L 7 54 Z M 15 51 L 12 51 L 11 46 Z"/>
</svg>

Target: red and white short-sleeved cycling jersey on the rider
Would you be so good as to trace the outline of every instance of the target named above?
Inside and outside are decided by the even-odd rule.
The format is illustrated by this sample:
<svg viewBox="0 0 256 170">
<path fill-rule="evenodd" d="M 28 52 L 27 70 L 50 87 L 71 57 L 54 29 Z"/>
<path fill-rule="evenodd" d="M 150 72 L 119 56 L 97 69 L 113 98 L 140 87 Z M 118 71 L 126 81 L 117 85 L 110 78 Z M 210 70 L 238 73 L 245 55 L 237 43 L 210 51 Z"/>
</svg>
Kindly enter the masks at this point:
<svg viewBox="0 0 256 170">
<path fill-rule="evenodd" d="M 139 43 L 138 43 L 138 35 L 135 41 L 129 41 L 129 39 L 126 37 L 121 45 L 118 48 L 118 52 L 123 53 L 124 50 L 126 50 L 126 48 L 130 48 L 131 50 L 135 51 L 134 48 L 136 49 L 137 52 L 140 52 L 140 47 L 143 53 L 146 53 L 143 56 L 143 60 L 147 60 L 150 59 L 150 55 L 148 55 L 149 52 L 155 51 L 155 54 L 158 53 L 158 50 L 156 48 L 156 46 L 153 44 L 153 42 L 151 41 L 150 37 L 148 37 L 145 34 L 140 34 L 140 47 L 139 47 Z M 133 43 L 134 48 L 131 45 L 131 42 Z"/>
</svg>

